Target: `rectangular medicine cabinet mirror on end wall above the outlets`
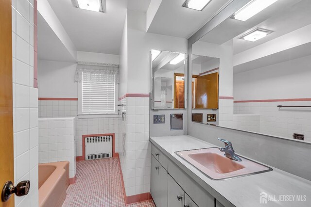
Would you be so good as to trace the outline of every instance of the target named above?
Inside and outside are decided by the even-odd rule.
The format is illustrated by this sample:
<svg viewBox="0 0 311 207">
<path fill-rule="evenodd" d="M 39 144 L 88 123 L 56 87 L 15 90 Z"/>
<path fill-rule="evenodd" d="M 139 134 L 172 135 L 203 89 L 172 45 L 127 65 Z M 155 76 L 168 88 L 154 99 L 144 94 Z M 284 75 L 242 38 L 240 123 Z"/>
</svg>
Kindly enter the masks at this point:
<svg viewBox="0 0 311 207">
<path fill-rule="evenodd" d="M 186 55 L 151 50 L 152 109 L 185 109 Z"/>
</svg>

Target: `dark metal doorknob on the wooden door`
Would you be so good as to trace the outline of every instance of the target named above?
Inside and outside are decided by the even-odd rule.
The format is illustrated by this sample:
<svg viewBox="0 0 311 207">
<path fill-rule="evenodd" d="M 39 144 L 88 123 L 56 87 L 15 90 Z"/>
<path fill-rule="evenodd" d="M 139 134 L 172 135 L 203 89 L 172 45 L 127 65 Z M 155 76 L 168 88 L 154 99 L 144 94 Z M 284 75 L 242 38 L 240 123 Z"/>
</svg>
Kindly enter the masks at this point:
<svg viewBox="0 0 311 207">
<path fill-rule="evenodd" d="M 3 202 L 9 200 L 11 195 L 15 193 L 17 196 L 27 195 L 30 188 L 30 181 L 20 181 L 17 186 L 13 186 L 12 181 L 7 181 L 2 189 L 1 200 Z"/>
</svg>

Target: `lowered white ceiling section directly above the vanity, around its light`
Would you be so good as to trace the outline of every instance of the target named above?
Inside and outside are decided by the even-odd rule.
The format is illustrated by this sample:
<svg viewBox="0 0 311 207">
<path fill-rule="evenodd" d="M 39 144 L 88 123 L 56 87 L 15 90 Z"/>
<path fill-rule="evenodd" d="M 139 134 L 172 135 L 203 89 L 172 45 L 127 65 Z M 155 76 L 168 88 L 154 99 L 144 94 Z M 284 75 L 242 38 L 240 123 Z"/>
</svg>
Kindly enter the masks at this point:
<svg viewBox="0 0 311 207">
<path fill-rule="evenodd" d="M 182 7 L 185 0 L 162 0 L 147 32 L 188 38 L 228 0 L 212 0 L 203 11 Z"/>
</svg>

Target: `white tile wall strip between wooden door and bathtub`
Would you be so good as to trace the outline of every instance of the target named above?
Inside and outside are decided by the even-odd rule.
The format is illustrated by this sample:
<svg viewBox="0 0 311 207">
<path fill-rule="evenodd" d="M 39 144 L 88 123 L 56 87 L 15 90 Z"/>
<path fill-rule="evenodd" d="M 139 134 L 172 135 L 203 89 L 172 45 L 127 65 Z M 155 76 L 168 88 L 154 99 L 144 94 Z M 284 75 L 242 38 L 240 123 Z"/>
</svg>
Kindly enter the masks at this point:
<svg viewBox="0 0 311 207">
<path fill-rule="evenodd" d="M 27 196 L 15 196 L 17 207 L 38 206 L 38 90 L 34 88 L 35 41 L 34 0 L 12 0 L 14 183 L 17 185 L 22 180 L 31 182 Z"/>
</svg>

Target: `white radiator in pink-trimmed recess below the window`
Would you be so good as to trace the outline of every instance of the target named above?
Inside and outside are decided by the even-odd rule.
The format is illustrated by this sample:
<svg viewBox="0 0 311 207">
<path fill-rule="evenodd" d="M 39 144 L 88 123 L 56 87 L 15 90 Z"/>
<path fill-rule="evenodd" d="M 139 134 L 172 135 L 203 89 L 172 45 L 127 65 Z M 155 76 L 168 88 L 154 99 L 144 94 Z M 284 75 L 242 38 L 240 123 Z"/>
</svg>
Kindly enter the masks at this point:
<svg viewBox="0 0 311 207">
<path fill-rule="evenodd" d="M 86 160 L 112 157 L 112 136 L 85 137 Z"/>
</svg>

